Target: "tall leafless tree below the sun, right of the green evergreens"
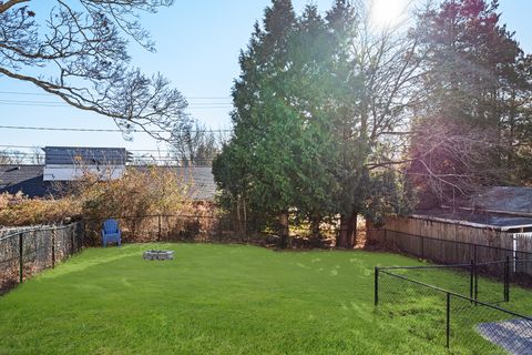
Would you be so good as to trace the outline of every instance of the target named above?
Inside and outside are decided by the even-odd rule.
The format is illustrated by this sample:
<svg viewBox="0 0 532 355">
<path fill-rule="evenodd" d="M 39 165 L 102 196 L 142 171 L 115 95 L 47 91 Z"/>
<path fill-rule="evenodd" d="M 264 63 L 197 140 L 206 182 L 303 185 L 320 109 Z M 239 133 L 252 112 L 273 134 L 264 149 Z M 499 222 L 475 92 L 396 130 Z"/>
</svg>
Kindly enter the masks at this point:
<svg viewBox="0 0 532 355">
<path fill-rule="evenodd" d="M 418 90 L 423 62 L 418 39 L 406 36 L 401 28 L 376 31 L 369 9 L 361 2 L 357 13 L 357 36 L 348 48 L 352 104 L 337 125 L 344 140 L 341 169 L 348 172 L 339 196 L 345 206 L 339 244 L 348 247 L 356 243 L 357 215 L 376 213 L 367 204 L 375 197 L 368 195 L 370 171 L 390 169 L 393 164 L 388 163 L 402 158 L 408 142 L 403 132 L 423 100 Z"/>
</svg>

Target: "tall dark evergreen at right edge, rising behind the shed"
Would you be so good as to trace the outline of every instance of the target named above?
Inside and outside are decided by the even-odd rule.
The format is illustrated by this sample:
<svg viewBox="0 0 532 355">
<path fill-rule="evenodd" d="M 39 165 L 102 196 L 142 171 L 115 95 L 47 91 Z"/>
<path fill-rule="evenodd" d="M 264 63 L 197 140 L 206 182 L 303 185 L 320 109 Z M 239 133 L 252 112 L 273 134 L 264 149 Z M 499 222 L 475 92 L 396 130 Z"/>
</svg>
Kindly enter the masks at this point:
<svg viewBox="0 0 532 355">
<path fill-rule="evenodd" d="M 497 11 L 497 1 L 448 0 L 412 32 L 427 97 L 412 119 L 409 173 L 432 203 L 530 183 L 532 57 Z"/>
</svg>

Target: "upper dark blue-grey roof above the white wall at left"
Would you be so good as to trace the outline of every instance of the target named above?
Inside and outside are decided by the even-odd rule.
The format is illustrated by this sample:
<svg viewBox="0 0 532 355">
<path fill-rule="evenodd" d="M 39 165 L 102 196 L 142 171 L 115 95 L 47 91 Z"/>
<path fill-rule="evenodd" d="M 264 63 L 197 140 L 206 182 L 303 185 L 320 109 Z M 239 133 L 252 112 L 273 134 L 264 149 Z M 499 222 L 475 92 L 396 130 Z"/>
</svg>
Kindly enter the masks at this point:
<svg viewBox="0 0 532 355">
<path fill-rule="evenodd" d="M 86 146 L 45 146 L 47 165 L 125 165 L 129 153 L 125 148 L 86 148 Z"/>
</svg>

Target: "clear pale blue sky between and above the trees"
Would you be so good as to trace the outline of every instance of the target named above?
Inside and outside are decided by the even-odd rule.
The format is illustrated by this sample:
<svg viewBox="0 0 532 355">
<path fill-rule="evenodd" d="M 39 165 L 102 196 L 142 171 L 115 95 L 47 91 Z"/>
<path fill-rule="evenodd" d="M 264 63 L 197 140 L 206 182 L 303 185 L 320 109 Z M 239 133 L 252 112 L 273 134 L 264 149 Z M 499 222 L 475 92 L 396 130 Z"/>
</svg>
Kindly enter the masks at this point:
<svg viewBox="0 0 532 355">
<path fill-rule="evenodd" d="M 398 0 L 382 0 L 398 1 Z M 314 0 L 321 10 L 332 0 Z M 308 3 L 294 0 L 297 11 Z M 132 64 L 147 73 L 161 72 L 190 98 L 190 113 L 212 129 L 228 129 L 231 87 L 238 75 L 238 53 L 249 39 L 253 23 L 260 20 L 269 0 L 176 0 L 171 8 L 143 18 L 156 42 L 157 52 L 150 53 L 131 45 Z M 38 12 L 38 11 L 37 11 Z M 500 0 L 502 22 L 515 31 L 525 52 L 532 52 L 532 1 Z M 38 12 L 39 16 L 39 12 Z M 60 102 L 53 97 L 8 94 L 39 93 L 31 85 L 0 77 L 0 102 Z M 216 99 L 197 99 L 216 98 Z M 4 100 L 4 101 L 2 101 Z M 80 112 L 68 106 L 29 106 L 0 103 L 0 125 L 114 129 L 106 118 Z M 12 145 L 86 145 L 156 149 L 157 142 L 145 134 L 135 134 L 126 142 L 120 133 L 50 132 L 0 129 L 0 144 Z M 165 149 L 164 144 L 158 145 Z M 1 146 L 0 146 L 1 149 Z"/>
</svg>

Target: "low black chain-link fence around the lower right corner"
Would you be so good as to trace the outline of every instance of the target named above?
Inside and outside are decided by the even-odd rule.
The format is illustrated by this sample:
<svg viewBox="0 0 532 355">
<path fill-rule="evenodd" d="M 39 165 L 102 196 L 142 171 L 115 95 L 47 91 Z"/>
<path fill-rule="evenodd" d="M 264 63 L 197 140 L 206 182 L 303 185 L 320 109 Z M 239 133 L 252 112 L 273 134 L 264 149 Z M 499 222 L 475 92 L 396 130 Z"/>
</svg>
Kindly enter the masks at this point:
<svg viewBox="0 0 532 355">
<path fill-rule="evenodd" d="M 509 263 L 504 261 L 504 265 Z M 459 353 L 467 349 L 473 354 L 499 354 L 503 351 L 531 354 L 532 318 L 475 300 L 477 295 L 471 291 L 479 287 L 479 294 L 502 293 L 507 296 L 509 285 L 493 282 L 479 286 L 475 277 L 474 271 L 468 270 L 467 264 L 376 267 L 375 305 L 391 306 L 388 314 L 422 317 L 422 328 L 417 332 Z"/>
</svg>

